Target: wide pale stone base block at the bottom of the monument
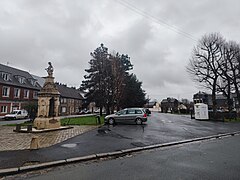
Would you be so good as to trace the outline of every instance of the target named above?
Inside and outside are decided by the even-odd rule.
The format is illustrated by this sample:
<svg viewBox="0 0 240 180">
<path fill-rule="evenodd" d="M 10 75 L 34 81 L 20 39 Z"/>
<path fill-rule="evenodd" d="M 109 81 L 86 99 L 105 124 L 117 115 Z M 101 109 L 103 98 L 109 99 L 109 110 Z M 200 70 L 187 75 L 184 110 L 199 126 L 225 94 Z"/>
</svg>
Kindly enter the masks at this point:
<svg viewBox="0 0 240 180">
<path fill-rule="evenodd" d="M 40 118 L 37 117 L 34 120 L 33 126 L 38 129 L 56 129 L 61 126 L 60 118 L 59 117 L 52 117 L 52 118 Z"/>
</svg>

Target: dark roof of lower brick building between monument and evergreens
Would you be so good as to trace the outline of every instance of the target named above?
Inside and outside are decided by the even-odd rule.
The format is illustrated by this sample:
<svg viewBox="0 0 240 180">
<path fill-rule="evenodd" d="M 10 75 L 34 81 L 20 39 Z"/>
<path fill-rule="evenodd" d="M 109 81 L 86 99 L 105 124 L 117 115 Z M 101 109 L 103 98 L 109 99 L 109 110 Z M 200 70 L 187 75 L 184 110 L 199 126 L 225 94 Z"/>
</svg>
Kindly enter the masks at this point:
<svg viewBox="0 0 240 180">
<path fill-rule="evenodd" d="M 81 91 L 74 87 L 67 87 L 67 85 L 59 83 L 56 83 L 56 86 L 62 97 L 81 100 L 84 99 L 81 95 Z"/>
</svg>

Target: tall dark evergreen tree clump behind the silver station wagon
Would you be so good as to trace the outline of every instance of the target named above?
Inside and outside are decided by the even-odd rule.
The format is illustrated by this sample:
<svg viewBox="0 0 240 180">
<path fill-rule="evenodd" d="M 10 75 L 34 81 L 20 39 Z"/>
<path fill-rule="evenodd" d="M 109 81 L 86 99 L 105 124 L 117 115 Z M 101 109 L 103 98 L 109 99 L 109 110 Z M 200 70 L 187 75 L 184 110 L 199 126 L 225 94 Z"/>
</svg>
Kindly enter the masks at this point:
<svg viewBox="0 0 240 180">
<path fill-rule="evenodd" d="M 85 71 L 85 80 L 81 90 L 86 92 L 87 102 L 95 102 L 96 106 L 106 109 L 109 114 L 123 107 L 142 107 L 145 103 L 145 93 L 135 75 L 129 75 L 133 69 L 128 55 L 116 53 L 111 55 L 108 48 L 101 44 L 90 53 L 90 68 Z M 131 100 L 127 98 L 131 97 Z"/>
</svg>

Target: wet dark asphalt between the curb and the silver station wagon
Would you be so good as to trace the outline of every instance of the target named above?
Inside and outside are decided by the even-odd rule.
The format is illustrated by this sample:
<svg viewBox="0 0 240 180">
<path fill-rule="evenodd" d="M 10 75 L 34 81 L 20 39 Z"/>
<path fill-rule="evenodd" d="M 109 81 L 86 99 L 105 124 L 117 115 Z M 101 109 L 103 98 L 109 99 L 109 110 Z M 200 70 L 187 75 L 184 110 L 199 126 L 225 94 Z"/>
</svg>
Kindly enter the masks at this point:
<svg viewBox="0 0 240 180">
<path fill-rule="evenodd" d="M 152 113 L 143 125 L 105 125 L 48 148 L 0 152 L 0 169 L 234 131 L 240 131 L 240 123 L 196 121 L 187 115 Z"/>
</svg>

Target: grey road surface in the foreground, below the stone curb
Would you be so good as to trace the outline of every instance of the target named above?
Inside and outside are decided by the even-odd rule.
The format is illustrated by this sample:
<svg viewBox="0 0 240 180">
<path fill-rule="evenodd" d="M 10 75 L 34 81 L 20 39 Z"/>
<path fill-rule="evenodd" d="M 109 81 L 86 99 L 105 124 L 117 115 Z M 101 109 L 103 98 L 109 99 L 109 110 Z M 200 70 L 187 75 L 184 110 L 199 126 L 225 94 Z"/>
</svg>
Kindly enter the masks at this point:
<svg viewBox="0 0 240 180">
<path fill-rule="evenodd" d="M 125 157 L 78 163 L 15 179 L 240 179 L 240 136 L 155 149 Z"/>
</svg>

